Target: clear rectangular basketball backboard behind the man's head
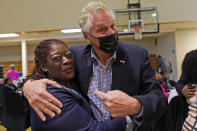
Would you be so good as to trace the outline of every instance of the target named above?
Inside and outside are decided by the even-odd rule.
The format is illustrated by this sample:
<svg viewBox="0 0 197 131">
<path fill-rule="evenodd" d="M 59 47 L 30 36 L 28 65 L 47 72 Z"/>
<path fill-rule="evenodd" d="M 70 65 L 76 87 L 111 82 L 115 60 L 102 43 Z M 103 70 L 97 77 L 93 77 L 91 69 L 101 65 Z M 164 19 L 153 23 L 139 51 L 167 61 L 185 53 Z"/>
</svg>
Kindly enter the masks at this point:
<svg viewBox="0 0 197 131">
<path fill-rule="evenodd" d="M 119 35 L 134 34 L 132 25 L 142 25 L 142 34 L 159 33 L 157 8 L 115 9 Z"/>
</svg>

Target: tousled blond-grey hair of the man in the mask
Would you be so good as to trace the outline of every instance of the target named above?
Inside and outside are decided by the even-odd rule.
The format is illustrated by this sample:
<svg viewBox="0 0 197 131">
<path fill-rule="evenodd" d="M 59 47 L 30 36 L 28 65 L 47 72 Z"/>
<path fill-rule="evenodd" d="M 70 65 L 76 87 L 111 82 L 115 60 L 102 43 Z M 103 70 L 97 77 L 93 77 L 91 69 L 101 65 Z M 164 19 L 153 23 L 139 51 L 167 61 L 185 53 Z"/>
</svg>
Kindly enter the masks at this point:
<svg viewBox="0 0 197 131">
<path fill-rule="evenodd" d="M 92 26 L 91 16 L 93 13 L 99 12 L 108 12 L 112 15 L 115 20 L 115 16 L 113 12 L 107 8 L 105 4 L 102 2 L 89 2 L 87 6 L 85 6 L 82 11 L 80 12 L 79 16 L 79 26 L 82 29 L 82 32 L 89 32 L 90 27 Z"/>
</svg>

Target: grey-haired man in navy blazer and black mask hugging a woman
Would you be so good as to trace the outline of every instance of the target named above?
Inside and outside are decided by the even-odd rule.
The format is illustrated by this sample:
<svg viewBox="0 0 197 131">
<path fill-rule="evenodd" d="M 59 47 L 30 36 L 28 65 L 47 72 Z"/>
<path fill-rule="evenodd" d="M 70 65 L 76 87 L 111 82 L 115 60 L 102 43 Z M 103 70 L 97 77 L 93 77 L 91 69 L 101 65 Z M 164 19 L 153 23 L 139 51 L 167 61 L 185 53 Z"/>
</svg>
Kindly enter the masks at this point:
<svg viewBox="0 0 197 131">
<path fill-rule="evenodd" d="M 90 2 L 82 9 L 79 25 L 90 44 L 70 48 L 75 61 L 74 80 L 95 118 L 103 121 L 127 116 L 134 130 L 147 131 L 167 105 L 147 50 L 119 42 L 115 17 L 101 2 Z M 27 81 L 23 86 L 42 120 L 46 120 L 43 113 L 54 117 L 54 112 L 61 113 L 62 106 L 46 91 L 46 85 L 57 83 L 44 79 Z"/>
</svg>

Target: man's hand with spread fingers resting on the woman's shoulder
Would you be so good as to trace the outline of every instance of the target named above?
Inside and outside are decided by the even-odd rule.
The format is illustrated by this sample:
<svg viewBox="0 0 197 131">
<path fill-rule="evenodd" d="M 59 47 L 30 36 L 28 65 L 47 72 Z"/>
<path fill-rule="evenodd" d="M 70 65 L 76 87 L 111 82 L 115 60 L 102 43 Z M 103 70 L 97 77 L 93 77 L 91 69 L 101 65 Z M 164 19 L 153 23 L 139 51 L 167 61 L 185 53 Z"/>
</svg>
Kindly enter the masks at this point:
<svg viewBox="0 0 197 131">
<path fill-rule="evenodd" d="M 32 82 L 28 80 L 23 86 L 24 95 L 30 106 L 43 121 L 46 120 L 44 113 L 55 117 L 54 112 L 60 114 L 60 108 L 62 107 L 61 102 L 47 92 L 47 85 L 59 87 L 56 82 L 48 79 L 34 80 Z"/>
</svg>

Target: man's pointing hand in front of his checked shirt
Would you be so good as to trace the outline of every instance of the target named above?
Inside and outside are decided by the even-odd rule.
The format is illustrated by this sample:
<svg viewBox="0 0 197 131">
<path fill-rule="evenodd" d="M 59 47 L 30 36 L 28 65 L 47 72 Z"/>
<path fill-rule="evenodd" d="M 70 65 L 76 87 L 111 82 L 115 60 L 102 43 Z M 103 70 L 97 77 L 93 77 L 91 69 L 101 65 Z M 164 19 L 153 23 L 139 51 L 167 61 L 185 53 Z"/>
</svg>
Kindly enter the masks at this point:
<svg viewBox="0 0 197 131">
<path fill-rule="evenodd" d="M 136 98 L 122 91 L 113 90 L 108 93 L 95 91 L 94 94 L 103 101 L 105 109 L 108 110 L 114 118 L 126 115 L 136 115 L 141 112 L 141 103 Z"/>
</svg>

